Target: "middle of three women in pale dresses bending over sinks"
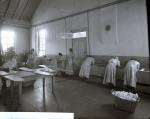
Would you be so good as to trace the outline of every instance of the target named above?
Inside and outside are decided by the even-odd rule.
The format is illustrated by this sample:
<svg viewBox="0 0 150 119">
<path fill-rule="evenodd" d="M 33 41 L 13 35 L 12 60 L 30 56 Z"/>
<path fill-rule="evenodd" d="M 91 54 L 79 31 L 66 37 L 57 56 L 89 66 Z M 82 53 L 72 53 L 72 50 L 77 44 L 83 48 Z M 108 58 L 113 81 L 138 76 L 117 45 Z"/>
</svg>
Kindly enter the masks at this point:
<svg viewBox="0 0 150 119">
<path fill-rule="evenodd" d="M 120 66 L 118 57 L 110 59 L 105 69 L 103 84 L 111 83 L 116 86 L 116 67 Z"/>
</svg>

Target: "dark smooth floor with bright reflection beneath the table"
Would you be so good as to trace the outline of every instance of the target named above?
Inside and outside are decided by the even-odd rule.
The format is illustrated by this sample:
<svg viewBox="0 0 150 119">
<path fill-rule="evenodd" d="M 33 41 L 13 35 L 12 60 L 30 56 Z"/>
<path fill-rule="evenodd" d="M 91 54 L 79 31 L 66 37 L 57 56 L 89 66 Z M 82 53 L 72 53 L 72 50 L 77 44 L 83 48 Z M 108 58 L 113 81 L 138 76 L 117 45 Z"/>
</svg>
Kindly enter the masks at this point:
<svg viewBox="0 0 150 119">
<path fill-rule="evenodd" d="M 136 111 L 128 113 L 114 107 L 110 90 L 100 84 L 70 77 L 56 77 L 55 95 L 51 92 L 51 80 L 46 79 L 46 95 L 43 97 L 42 80 L 37 80 L 34 86 L 23 88 L 20 105 L 16 103 L 10 105 L 9 95 L 5 99 L 1 97 L 0 111 L 74 112 L 75 117 L 81 119 L 148 119 L 150 117 L 150 95 L 140 94 L 141 100 Z M 9 90 L 7 92 L 9 94 Z"/>
</svg>

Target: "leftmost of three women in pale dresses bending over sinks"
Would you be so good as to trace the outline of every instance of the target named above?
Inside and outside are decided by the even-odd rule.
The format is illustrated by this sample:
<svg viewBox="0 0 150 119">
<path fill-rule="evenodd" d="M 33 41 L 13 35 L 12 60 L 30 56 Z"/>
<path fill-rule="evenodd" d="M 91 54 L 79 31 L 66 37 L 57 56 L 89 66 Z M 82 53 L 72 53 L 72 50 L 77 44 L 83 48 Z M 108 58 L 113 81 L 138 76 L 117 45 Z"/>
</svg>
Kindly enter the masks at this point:
<svg viewBox="0 0 150 119">
<path fill-rule="evenodd" d="M 85 77 L 89 79 L 90 76 L 90 69 L 91 69 L 91 64 L 94 64 L 95 59 L 92 57 L 88 57 L 81 65 L 81 69 L 79 72 L 79 76 L 81 78 Z"/>
</svg>

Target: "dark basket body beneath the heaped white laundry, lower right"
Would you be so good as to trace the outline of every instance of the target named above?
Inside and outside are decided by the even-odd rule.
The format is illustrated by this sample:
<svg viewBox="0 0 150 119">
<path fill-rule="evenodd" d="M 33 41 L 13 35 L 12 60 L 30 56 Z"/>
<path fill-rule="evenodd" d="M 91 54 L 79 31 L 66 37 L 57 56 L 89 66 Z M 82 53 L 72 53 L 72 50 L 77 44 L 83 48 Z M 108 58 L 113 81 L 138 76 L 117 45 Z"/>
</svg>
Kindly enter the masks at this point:
<svg viewBox="0 0 150 119">
<path fill-rule="evenodd" d="M 120 97 L 114 96 L 115 107 L 127 112 L 134 112 L 140 99 L 137 101 L 129 101 Z"/>
</svg>

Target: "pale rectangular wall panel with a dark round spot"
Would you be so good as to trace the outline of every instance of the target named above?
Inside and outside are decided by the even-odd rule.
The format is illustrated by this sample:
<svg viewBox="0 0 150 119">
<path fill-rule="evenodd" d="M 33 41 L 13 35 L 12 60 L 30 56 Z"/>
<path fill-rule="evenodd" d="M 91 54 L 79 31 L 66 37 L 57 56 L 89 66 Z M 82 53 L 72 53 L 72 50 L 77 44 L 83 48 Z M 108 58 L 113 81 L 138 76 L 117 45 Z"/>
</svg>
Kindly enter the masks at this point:
<svg viewBox="0 0 150 119">
<path fill-rule="evenodd" d="M 100 18 L 100 24 L 101 24 L 101 41 L 102 44 L 114 44 L 118 42 L 117 36 L 116 36 L 116 13 L 117 13 L 117 7 L 110 6 L 101 9 L 101 18 Z"/>
</svg>

